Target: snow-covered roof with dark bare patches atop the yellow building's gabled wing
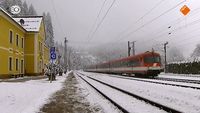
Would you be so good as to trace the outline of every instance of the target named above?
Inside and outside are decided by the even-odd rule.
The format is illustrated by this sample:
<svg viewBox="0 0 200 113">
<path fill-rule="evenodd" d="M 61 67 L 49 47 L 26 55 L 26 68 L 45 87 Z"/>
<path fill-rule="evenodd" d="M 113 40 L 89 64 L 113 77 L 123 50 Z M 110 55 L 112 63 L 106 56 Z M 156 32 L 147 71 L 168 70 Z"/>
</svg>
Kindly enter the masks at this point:
<svg viewBox="0 0 200 113">
<path fill-rule="evenodd" d="M 16 17 L 13 19 L 29 32 L 39 32 L 40 30 L 42 16 Z"/>
</svg>

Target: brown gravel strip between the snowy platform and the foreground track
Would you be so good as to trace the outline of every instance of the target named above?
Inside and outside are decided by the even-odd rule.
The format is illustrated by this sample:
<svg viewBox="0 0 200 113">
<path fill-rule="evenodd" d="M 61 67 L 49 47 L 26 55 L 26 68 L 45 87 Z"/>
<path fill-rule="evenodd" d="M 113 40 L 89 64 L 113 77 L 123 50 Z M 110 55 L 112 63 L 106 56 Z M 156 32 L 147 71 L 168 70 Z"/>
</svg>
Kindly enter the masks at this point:
<svg viewBox="0 0 200 113">
<path fill-rule="evenodd" d="M 99 106 L 90 105 L 73 74 L 70 74 L 62 90 L 56 92 L 39 113 L 96 113 L 103 112 Z"/>
</svg>

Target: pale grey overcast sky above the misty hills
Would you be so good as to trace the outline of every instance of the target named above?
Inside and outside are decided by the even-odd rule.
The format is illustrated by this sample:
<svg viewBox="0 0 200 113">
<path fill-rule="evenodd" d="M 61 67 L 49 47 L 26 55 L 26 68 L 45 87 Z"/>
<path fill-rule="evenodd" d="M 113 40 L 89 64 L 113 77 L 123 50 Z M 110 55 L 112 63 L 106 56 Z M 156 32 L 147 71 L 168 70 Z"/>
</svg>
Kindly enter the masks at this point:
<svg viewBox="0 0 200 113">
<path fill-rule="evenodd" d="M 152 45 L 162 47 L 163 43 L 169 41 L 169 48 L 179 48 L 186 56 L 200 43 L 200 0 L 185 0 L 177 7 L 184 0 L 116 0 L 92 37 L 88 35 L 94 32 L 113 0 L 105 2 L 93 28 L 104 0 L 26 1 L 32 3 L 39 14 L 51 13 L 55 40 L 59 42 L 63 42 L 64 37 L 68 38 L 70 44 L 79 46 L 137 41 L 136 51 L 140 51 L 151 49 Z M 187 16 L 180 13 L 184 5 L 191 9 Z"/>
</svg>

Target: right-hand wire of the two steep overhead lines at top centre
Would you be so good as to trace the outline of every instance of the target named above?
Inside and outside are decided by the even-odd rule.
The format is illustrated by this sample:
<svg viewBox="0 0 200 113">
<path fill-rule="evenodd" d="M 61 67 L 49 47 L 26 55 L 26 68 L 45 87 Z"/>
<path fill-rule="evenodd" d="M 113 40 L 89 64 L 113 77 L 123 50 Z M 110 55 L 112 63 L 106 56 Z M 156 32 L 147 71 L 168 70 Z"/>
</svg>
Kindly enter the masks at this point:
<svg viewBox="0 0 200 113">
<path fill-rule="evenodd" d="M 105 20 L 106 16 L 108 15 L 110 9 L 112 8 L 112 6 L 114 5 L 115 2 L 116 2 L 116 0 L 113 0 L 112 4 L 110 5 L 110 7 L 108 8 L 108 10 L 106 11 L 105 15 L 103 16 L 103 18 L 101 19 L 101 21 L 98 23 L 95 31 L 92 33 L 91 37 L 88 39 L 88 42 L 90 41 L 90 39 L 93 38 L 93 36 L 95 35 L 95 33 L 97 32 L 97 30 L 99 29 L 99 27 L 101 26 L 101 24 L 103 23 L 103 21 Z"/>
</svg>

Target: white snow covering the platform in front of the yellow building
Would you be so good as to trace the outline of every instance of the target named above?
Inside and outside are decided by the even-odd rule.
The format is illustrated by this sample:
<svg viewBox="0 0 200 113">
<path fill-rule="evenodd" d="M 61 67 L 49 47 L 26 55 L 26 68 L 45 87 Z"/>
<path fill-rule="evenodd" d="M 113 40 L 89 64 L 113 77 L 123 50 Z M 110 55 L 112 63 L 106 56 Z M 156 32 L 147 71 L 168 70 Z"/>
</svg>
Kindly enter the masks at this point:
<svg viewBox="0 0 200 113">
<path fill-rule="evenodd" d="M 47 79 L 27 82 L 0 83 L 1 113 L 35 113 L 48 101 L 48 98 L 62 88 L 67 74 L 57 76 L 50 83 Z"/>
</svg>

